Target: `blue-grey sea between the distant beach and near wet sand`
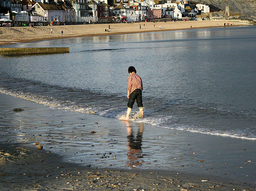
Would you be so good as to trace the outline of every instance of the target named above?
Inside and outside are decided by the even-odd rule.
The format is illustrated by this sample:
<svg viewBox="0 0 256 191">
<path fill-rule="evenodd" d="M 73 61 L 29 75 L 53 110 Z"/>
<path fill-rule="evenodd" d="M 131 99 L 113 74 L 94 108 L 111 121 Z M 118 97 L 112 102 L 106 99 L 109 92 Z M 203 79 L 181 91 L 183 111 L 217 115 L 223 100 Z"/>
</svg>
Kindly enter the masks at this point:
<svg viewBox="0 0 256 191">
<path fill-rule="evenodd" d="M 7 47 L 7 46 L 6 46 Z M 58 39 L 8 47 L 70 53 L 0 57 L 0 93 L 82 113 L 126 113 L 128 67 L 159 128 L 256 139 L 256 27 Z M 134 112 L 138 110 L 136 105 Z"/>
</svg>

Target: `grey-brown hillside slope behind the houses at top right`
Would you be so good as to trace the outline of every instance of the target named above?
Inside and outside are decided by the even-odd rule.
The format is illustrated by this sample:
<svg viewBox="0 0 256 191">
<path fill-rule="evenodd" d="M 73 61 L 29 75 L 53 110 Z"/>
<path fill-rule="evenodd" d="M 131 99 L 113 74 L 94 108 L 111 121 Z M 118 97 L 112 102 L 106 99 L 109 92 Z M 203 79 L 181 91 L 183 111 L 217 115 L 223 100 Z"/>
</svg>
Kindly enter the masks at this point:
<svg viewBox="0 0 256 191">
<path fill-rule="evenodd" d="M 202 2 L 197 0 L 197 2 Z M 212 4 L 225 11 L 229 6 L 231 12 L 239 12 L 245 16 L 256 16 L 256 0 L 203 0 L 206 4 Z"/>
</svg>

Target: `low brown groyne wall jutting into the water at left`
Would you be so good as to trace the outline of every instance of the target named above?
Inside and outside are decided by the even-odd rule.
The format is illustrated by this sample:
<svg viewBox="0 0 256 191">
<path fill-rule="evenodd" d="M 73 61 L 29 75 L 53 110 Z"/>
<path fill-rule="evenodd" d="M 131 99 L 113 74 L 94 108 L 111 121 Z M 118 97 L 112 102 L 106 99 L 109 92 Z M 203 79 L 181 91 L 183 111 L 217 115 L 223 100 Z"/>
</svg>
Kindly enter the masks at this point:
<svg viewBox="0 0 256 191">
<path fill-rule="evenodd" d="M 32 55 L 69 53 L 69 47 L 41 47 L 41 48 L 0 48 L 0 55 Z"/>
</svg>

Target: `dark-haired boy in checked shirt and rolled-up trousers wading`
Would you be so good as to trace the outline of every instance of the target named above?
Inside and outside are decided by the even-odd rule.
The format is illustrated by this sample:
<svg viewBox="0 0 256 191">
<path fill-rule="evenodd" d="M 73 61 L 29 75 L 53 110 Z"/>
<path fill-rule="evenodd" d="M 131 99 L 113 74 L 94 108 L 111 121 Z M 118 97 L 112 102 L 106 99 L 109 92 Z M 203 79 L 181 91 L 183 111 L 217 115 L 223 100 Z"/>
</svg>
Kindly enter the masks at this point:
<svg viewBox="0 0 256 191">
<path fill-rule="evenodd" d="M 136 74 L 136 69 L 133 66 L 130 66 L 128 68 L 128 73 L 130 74 L 128 77 L 128 93 L 127 98 L 129 98 L 128 101 L 128 108 L 126 117 L 122 120 L 129 120 L 130 113 L 132 111 L 132 106 L 136 100 L 140 112 L 140 117 L 143 117 L 144 111 L 143 111 L 143 104 L 142 104 L 142 80 L 141 78 Z"/>
</svg>

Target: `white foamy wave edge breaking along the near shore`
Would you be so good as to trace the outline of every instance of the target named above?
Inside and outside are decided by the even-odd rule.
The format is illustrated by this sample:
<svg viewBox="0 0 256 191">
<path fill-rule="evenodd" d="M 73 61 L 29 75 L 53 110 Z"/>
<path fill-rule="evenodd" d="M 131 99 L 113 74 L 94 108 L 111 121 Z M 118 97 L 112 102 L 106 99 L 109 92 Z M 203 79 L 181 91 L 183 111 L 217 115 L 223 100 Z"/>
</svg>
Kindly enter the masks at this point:
<svg viewBox="0 0 256 191">
<path fill-rule="evenodd" d="M 0 87 L 0 93 L 6 94 L 6 95 L 11 95 L 17 98 L 22 98 L 24 100 L 36 102 L 38 104 L 42 104 L 44 106 L 49 106 L 50 108 L 53 109 L 64 109 L 72 112 L 80 112 L 84 114 L 96 114 L 98 111 L 96 108 L 83 108 L 80 106 L 76 106 L 74 102 L 71 101 L 64 101 L 64 100 L 58 100 L 56 98 L 52 97 L 46 97 L 46 96 L 38 96 L 34 95 L 31 93 L 23 93 L 23 92 L 18 92 L 18 91 L 10 91 L 6 90 L 2 87 Z M 103 109 L 101 110 L 98 114 L 101 116 L 105 117 L 115 117 L 119 120 L 123 119 L 125 117 L 125 114 L 119 114 L 117 115 L 114 110 L 117 108 L 111 108 L 111 109 Z M 135 113 L 136 116 L 136 113 Z M 252 135 L 248 135 L 248 132 L 242 132 L 242 131 L 224 131 L 224 130 L 214 130 L 214 129 L 206 129 L 206 128 L 200 128 L 196 126 L 178 126 L 175 125 L 175 121 L 177 119 L 174 118 L 173 116 L 159 116 L 159 118 L 140 118 L 136 117 L 135 119 L 131 118 L 132 122 L 136 123 L 145 123 L 145 124 L 151 124 L 153 126 L 159 127 L 159 128 L 168 128 L 168 129 L 176 129 L 176 130 L 185 130 L 189 132 L 196 132 L 196 133 L 202 133 L 202 134 L 211 134 L 215 136 L 227 136 L 227 137 L 232 137 L 232 138 L 241 138 L 241 139 L 247 139 L 247 140 L 256 140 L 256 138 Z M 173 122 L 173 125 L 164 125 L 166 122 L 170 124 L 170 122 Z"/>
</svg>

